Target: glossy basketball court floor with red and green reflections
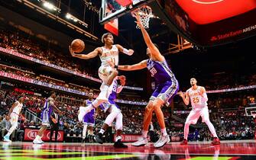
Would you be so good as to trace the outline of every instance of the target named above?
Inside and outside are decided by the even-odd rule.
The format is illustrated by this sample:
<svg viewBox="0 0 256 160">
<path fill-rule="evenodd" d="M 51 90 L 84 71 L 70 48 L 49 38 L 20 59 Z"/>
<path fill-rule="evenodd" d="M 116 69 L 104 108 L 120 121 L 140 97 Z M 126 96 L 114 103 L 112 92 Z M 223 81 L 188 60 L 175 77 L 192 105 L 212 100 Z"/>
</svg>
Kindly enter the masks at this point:
<svg viewBox="0 0 256 160">
<path fill-rule="evenodd" d="M 255 159 L 255 140 L 222 141 L 220 146 L 209 142 L 190 142 L 180 146 L 171 142 L 162 149 L 153 143 L 144 147 L 128 144 L 128 149 L 115 149 L 112 144 L 0 142 L 0 159 Z"/>
</svg>

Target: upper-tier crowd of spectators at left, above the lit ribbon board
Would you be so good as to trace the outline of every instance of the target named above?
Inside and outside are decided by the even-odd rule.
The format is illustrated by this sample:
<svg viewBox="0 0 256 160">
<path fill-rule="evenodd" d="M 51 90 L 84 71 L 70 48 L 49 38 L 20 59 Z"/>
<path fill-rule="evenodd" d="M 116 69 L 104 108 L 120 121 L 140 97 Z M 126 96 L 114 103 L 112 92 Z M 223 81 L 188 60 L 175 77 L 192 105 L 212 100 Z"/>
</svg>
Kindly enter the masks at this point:
<svg viewBox="0 0 256 160">
<path fill-rule="evenodd" d="M 49 46 L 44 40 L 25 34 L 21 30 L 12 29 L 13 31 L 10 31 L 10 28 L 8 28 L 8 30 L 0 29 L 1 47 L 15 50 L 18 53 L 40 59 L 41 61 L 56 66 L 70 69 L 73 72 L 79 72 L 83 75 L 98 78 L 98 69 L 95 69 L 92 65 L 83 66 L 75 61 L 75 59 L 71 59 L 70 56 L 67 56 L 67 53 L 63 54 L 63 51 L 57 51 L 57 47 Z M 138 85 L 131 80 L 127 85 L 138 87 Z"/>
</svg>

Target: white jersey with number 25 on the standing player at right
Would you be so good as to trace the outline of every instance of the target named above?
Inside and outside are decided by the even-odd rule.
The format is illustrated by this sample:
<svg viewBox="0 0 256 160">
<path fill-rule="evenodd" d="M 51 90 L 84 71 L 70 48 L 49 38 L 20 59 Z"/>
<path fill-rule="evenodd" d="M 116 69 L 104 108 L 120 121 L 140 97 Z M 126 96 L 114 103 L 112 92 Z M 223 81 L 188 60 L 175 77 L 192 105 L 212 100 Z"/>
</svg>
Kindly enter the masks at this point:
<svg viewBox="0 0 256 160">
<path fill-rule="evenodd" d="M 201 109 L 203 107 L 207 107 L 206 100 L 204 100 L 203 96 L 200 95 L 202 89 L 203 87 L 197 86 L 196 90 L 194 90 L 193 88 L 186 90 L 186 93 L 190 95 L 190 101 L 193 109 Z"/>
</svg>

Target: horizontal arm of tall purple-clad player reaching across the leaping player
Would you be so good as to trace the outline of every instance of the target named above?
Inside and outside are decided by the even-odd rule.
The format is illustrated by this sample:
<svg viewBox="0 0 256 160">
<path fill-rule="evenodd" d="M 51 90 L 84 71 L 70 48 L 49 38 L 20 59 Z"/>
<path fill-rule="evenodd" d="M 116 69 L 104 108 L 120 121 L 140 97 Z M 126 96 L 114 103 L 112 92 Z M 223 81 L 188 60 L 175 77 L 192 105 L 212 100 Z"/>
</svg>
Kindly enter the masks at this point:
<svg viewBox="0 0 256 160">
<path fill-rule="evenodd" d="M 115 66 L 115 64 L 111 61 L 108 61 L 109 65 L 112 66 L 112 68 L 116 68 L 122 71 L 134 71 L 139 69 L 144 69 L 147 67 L 147 60 L 143 60 L 137 64 L 134 65 L 125 65 L 125 66 Z"/>
</svg>

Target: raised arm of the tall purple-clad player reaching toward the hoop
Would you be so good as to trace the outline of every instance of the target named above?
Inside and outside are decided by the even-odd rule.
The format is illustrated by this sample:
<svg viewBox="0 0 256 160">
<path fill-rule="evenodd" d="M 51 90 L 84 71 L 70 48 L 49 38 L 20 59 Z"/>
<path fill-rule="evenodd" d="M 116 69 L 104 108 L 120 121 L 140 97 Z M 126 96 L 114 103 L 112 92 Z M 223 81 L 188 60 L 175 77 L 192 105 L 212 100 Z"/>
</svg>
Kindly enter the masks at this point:
<svg viewBox="0 0 256 160">
<path fill-rule="evenodd" d="M 151 37 L 147 34 L 147 30 L 145 30 L 143 24 L 141 23 L 141 18 L 138 14 L 132 14 L 134 18 L 136 18 L 137 21 L 135 23 L 138 24 L 138 26 L 141 28 L 141 32 L 144 38 L 145 43 L 147 44 L 147 47 L 149 50 L 151 50 L 151 56 L 152 59 L 157 60 L 157 61 L 164 61 L 164 56 L 161 55 L 159 50 L 157 49 L 157 46 L 154 45 L 154 43 L 151 40 Z"/>
</svg>

